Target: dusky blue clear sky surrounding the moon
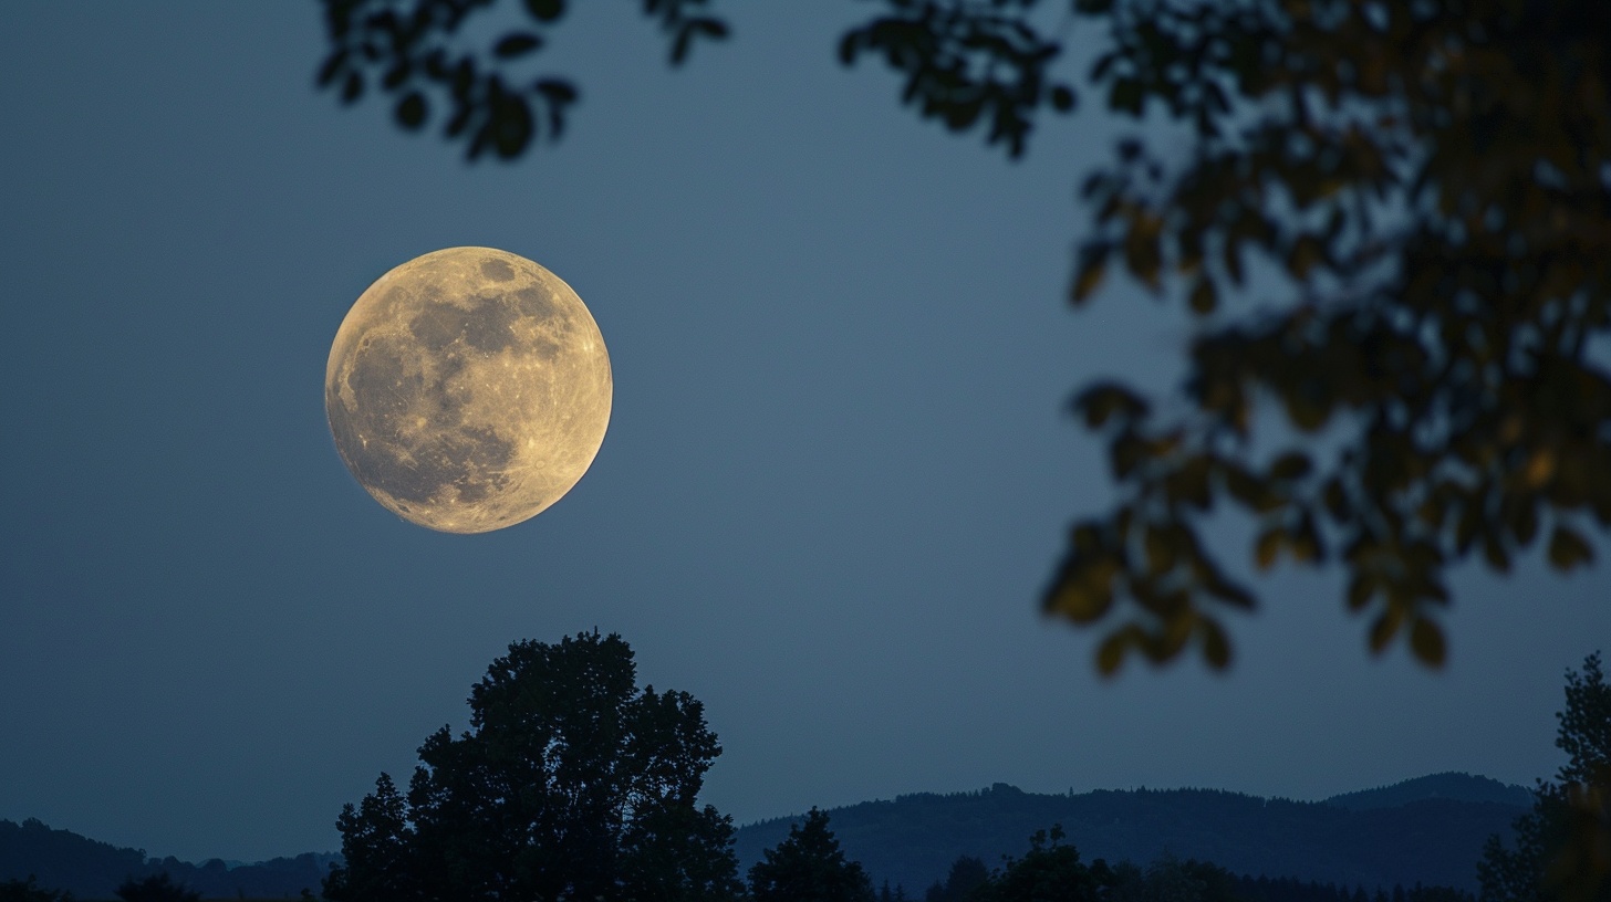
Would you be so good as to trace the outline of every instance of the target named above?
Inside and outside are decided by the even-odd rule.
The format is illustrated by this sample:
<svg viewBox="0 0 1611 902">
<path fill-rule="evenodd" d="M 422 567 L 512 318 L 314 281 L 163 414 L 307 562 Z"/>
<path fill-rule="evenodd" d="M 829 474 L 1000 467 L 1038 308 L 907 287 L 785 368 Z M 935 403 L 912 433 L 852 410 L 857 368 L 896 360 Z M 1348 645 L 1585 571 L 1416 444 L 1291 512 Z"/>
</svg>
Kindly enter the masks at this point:
<svg viewBox="0 0 1611 902">
<path fill-rule="evenodd" d="M 1171 385 L 1191 327 L 1124 283 L 1062 301 L 1115 135 L 1092 105 L 1008 164 L 834 61 L 870 5 L 727 3 L 735 40 L 680 71 L 636 3 L 578 6 L 548 56 L 583 90 L 565 140 L 475 168 L 314 92 L 313 3 L 8 10 L 0 817 L 335 849 L 342 804 L 462 725 L 509 641 L 593 627 L 706 702 L 706 799 L 741 823 L 992 781 L 1313 799 L 1555 770 L 1563 672 L 1611 636 L 1603 565 L 1456 573 L 1442 673 L 1369 659 L 1336 573 L 1261 580 L 1226 676 L 1105 683 L 1039 617 L 1065 525 L 1110 498 L 1063 401 Z M 591 472 L 485 536 L 371 501 L 322 409 L 348 306 L 453 245 L 565 279 L 615 374 Z"/>
</svg>

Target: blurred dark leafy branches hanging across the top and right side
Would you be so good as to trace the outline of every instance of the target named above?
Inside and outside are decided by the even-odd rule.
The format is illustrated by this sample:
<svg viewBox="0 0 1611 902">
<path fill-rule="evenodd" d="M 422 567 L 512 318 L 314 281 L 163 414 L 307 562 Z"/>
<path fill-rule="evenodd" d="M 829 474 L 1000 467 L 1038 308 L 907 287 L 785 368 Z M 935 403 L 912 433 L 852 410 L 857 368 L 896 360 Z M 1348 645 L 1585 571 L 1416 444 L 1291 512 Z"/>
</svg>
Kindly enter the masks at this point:
<svg viewBox="0 0 1611 902">
<path fill-rule="evenodd" d="M 424 79 L 472 158 L 517 156 L 533 105 L 556 137 L 575 89 L 516 90 L 501 66 L 564 3 L 525 0 L 532 31 L 445 50 L 491 2 L 327 0 L 321 84 L 354 100 L 382 72 L 419 127 Z M 644 0 L 673 63 L 727 34 L 696 8 Z M 1429 667 L 1452 565 L 1505 572 L 1535 544 L 1559 570 L 1592 562 L 1611 523 L 1611 380 L 1592 361 L 1611 322 L 1611 6 L 881 0 L 839 58 L 883 60 L 920 116 L 1015 158 L 1041 111 L 1076 105 L 1047 11 L 1107 29 L 1084 90 L 1145 124 L 1083 180 L 1071 300 L 1123 272 L 1195 322 L 1181 412 L 1118 380 L 1071 401 L 1121 496 L 1070 528 L 1042 607 L 1104 630 L 1097 668 L 1229 664 L 1223 617 L 1257 598 L 1202 541 L 1216 503 L 1255 522 L 1258 570 L 1340 561 L 1369 649 L 1406 639 Z"/>
</svg>

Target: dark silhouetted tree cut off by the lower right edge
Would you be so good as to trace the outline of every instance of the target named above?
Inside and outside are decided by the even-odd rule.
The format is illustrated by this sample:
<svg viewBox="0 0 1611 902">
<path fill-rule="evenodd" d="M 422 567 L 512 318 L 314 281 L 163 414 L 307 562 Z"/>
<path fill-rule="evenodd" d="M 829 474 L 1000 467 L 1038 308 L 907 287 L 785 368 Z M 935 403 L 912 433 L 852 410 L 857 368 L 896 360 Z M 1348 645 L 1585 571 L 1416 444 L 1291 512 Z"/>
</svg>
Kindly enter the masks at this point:
<svg viewBox="0 0 1611 902">
<path fill-rule="evenodd" d="M 1568 762 L 1555 781 L 1539 781 L 1513 847 L 1489 838 L 1477 862 L 1482 902 L 1611 902 L 1611 686 L 1600 652 L 1582 673 L 1568 670 L 1566 707 L 1555 717 Z M 1411 892 L 1411 902 L 1443 900 Z"/>
</svg>

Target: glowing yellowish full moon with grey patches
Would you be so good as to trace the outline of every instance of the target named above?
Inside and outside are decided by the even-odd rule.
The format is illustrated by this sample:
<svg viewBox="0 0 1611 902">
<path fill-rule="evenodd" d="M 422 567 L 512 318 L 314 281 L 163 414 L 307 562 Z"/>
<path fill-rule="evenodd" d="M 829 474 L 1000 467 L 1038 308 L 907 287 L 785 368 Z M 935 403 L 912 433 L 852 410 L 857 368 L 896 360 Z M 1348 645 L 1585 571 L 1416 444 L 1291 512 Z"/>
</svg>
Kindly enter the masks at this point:
<svg viewBox="0 0 1611 902">
<path fill-rule="evenodd" d="M 485 533 L 545 511 L 593 464 L 609 353 L 557 275 L 448 248 L 369 287 L 342 321 L 324 409 L 342 461 L 404 520 Z"/>
</svg>

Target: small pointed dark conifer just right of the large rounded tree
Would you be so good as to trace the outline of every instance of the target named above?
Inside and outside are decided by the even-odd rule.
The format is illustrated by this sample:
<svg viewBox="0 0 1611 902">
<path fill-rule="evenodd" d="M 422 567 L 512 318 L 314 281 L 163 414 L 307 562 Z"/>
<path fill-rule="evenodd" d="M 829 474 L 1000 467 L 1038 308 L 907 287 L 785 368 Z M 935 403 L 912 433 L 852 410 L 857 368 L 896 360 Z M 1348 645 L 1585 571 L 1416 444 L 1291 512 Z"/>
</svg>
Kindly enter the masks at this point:
<svg viewBox="0 0 1611 902">
<path fill-rule="evenodd" d="M 873 883 L 847 862 L 828 830 L 828 815 L 812 809 L 786 839 L 760 854 L 749 868 L 754 902 L 872 902 Z"/>
</svg>

